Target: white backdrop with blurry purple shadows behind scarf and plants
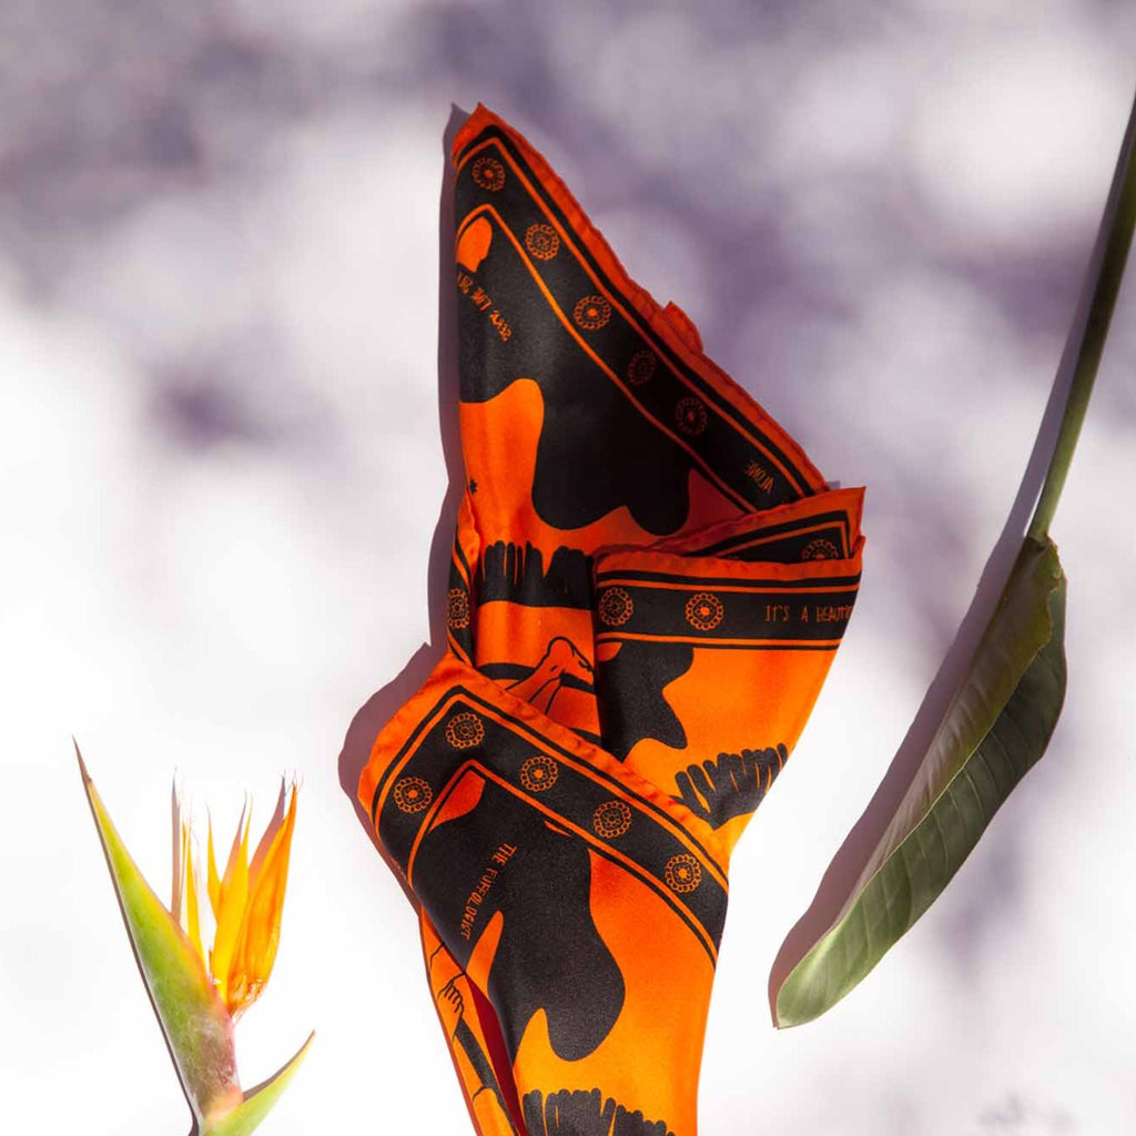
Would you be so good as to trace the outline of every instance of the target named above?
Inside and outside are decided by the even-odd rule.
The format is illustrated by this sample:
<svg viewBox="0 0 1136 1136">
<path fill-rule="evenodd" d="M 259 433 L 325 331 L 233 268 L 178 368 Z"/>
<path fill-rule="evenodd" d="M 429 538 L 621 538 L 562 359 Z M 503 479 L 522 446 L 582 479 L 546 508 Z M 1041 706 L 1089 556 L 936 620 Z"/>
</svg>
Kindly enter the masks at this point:
<svg viewBox="0 0 1136 1136">
<path fill-rule="evenodd" d="M 1136 9 L 1104 0 L 0 7 L 5 1129 L 189 1127 L 74 733 L 162 892 L 175 769 L 224 828 L 302 779 L 245 1081 L 318 1036 L 265 1136 L 468 1130 L 339 763 L 431 638 L 443 134 L 482 100 L 868 486 L 855 616 L 735 857 L 704 1136 L 1136 1130 L 1133 286 L 1054 526 L 1047 755 L 845 1002 L 775 1033 L 766 991 L 1014 501 L 1134 49 Z"/>
</svg>

